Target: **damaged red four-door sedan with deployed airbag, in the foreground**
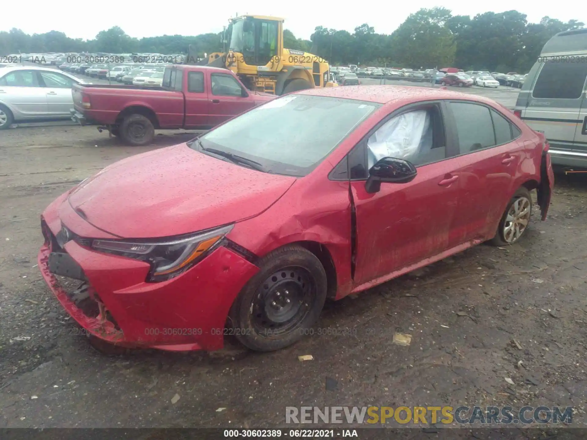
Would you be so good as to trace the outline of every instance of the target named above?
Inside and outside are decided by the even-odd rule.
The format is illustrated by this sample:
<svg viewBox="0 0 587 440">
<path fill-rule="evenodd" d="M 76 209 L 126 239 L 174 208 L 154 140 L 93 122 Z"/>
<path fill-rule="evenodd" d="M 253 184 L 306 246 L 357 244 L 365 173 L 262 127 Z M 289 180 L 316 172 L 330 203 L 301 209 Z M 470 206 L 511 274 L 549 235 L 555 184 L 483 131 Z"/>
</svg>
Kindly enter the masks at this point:
<svg viewBox="0 0 587 440">
<path fill-rule="evenodd" d="M 259 351 L 341 299 L 546 218 L 548 143 L 447 90 L 302 90 L 188 143 L 114 163 L 41 216 L 39 268 L 91 335 Z M 77 286 L 76 285 L 79 285 Z"/>
</svg>

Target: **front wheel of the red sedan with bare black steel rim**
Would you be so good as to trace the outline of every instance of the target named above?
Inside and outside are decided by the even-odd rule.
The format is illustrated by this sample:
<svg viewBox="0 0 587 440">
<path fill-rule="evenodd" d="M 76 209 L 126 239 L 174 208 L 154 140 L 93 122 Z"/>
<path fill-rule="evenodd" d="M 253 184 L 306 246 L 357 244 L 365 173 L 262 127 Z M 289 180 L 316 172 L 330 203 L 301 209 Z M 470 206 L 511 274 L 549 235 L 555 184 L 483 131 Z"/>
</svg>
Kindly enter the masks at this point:
<svg viewBox="0 0 587 440">
<path fill-rule="evenodd" d="M 312 252 L 297 245 L 270 252 L 258 266 L 228 319 L 244 346 L 279 350 L 309 334 L 318 320 L 326 300 L 326 272 Z"/>
</svg>

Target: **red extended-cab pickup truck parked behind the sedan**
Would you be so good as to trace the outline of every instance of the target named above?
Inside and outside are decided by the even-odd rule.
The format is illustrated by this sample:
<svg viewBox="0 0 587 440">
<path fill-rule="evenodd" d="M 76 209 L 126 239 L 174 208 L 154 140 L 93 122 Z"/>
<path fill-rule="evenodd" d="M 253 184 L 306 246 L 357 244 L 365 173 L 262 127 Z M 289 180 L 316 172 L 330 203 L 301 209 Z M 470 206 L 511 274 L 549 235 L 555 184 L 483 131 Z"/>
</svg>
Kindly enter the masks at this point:
<svg viewBox="0 0 587 440">
<path fill-rule="evenodd" d="M 251 92 L 230 70 L 167 66 L 163 87 L 74 84 L 72 119 L 100 124 L 131 145 L 151 143 L 155 130 L 208 130 L 275 99 Z"/>
</svg>

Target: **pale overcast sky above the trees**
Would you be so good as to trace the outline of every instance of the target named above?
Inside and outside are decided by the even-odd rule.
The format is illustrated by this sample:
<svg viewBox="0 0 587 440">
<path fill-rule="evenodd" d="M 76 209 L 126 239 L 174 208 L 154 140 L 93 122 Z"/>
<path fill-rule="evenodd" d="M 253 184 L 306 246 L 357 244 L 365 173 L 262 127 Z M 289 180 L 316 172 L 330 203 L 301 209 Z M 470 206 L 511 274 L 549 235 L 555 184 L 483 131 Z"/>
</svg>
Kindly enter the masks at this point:
<svg viewBox="0 0 587 440">
<path fill-rule="evenodd" d="M 284 27 L 297 38 L 309 39 L 316 26 L 325 26 L 353 32 L 356 26 L 368 23 L 377 33 L 392 33 L 402 22 L 420 8 L 439 6 L 435 0 L 387 2 L 376 6 L 376 1 L 361 4 L 351 2 L 346 8 L 340 2 L 310 2 L 301 7 L 299 2 L 275 1 L 261 6 L 258 2 L 222 0 L 198 2 L 174 0 L 166 2 L 74 2 L 62 3 L 62 8 L 46 8 L 46 2 L 31 0 L 22 6 L 19 2 L 4 2 L 0 31 L 12 28 L 25 33 L 64 32 L 70 38 L 94 39 L 96 34 L 112 26 L 120 26 L 131 37 L 158 35 L 198 35 L 220 32 L 232 16 L 246 13 L 271 15 L 285 19 Z M 507 9 L 498 2 L 454 2 L 448 9 L 453 15 L 470 15 Z M 248 6 L 251 5 L 251 7 Z M 450 3 L 449 3 L 450 4 Z M 510 3 L 507 2 L 509 5 Z M 335 6 L 333 6 L 335 5 Z M 365 5 L 363 7 L 362 5 Z M 561 21 L 576 19 L 587 23 L 587 8 L 578 8 L 573 2 L 537 2 L 518 0 L 515 10 L 527 15 L 528 22 L 537 23 L 543 16 Z M 447 6 L 445 6 L 447 7 Z M 23 11 L 38 11 L 29 13 Z M 491 9 L 490 9 L 491 8 Z M 307 12 L 306 12 L 307 11 Z M 8 19 L 9 18 L 9 19 Z"/>
</svg>

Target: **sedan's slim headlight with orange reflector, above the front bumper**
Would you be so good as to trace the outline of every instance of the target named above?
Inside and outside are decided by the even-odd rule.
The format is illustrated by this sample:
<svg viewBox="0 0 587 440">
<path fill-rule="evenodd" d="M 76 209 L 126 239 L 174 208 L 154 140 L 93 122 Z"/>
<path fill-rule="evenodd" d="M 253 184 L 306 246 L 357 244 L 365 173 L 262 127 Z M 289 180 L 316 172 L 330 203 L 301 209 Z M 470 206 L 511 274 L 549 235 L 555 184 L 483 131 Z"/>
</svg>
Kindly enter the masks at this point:
<svg viewBox="0 0 587 440">
<path fill-rule="evenodd" d="M 194 266 L 204 255 L 217 247 L 233 226 L 223 226 L 164 241 L 94 240 L 92 248 L 148 262 L 151 270 L 147 281 L 165 281 Z"/>
</svg>

